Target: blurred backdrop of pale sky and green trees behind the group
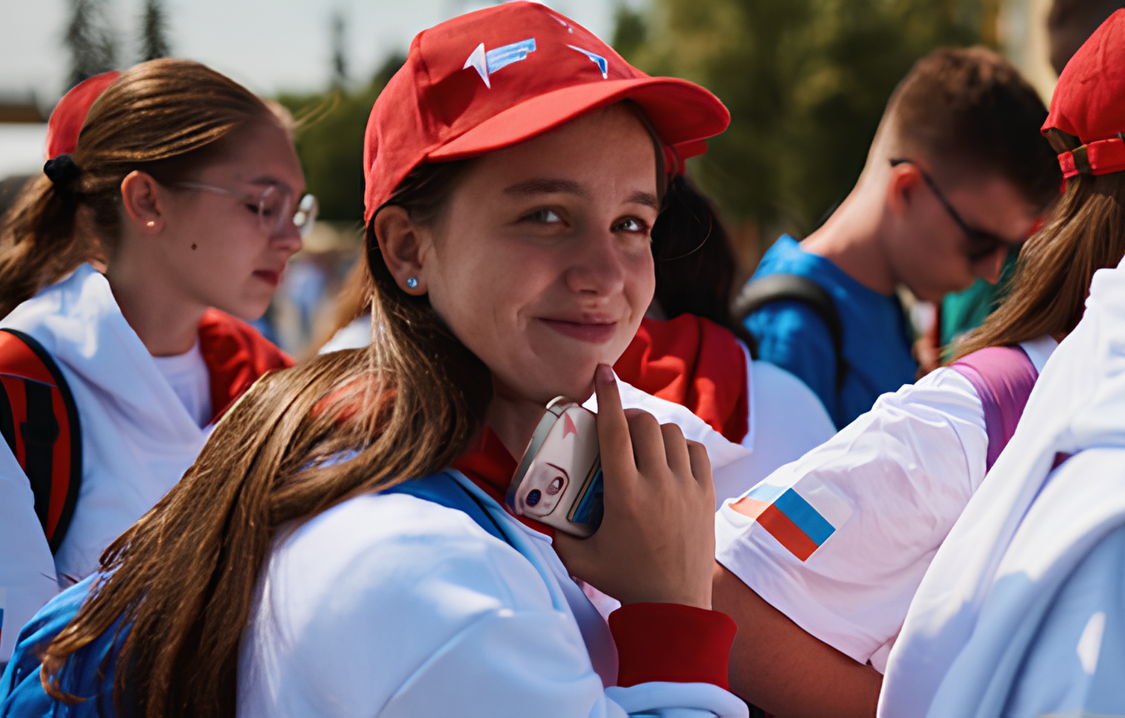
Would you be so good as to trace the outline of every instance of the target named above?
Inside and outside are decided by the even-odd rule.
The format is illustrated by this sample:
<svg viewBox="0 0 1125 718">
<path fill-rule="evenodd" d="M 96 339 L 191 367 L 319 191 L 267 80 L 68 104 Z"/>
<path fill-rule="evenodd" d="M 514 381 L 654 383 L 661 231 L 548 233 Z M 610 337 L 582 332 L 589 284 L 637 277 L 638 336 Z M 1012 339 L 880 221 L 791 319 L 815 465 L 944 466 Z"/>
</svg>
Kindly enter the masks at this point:
<svg viewBox="0 0 1125 718">
<path fill-rule="evenodd" d="M 297 151 L 320 218 L 260 323 L 296 357 L 333 324 L 360 244 L 362 133 L 423 27 L 488 3 L 237 0 L 7 0 L 0 28 L 0 207 L 40 171 L 46 118 L 69 88 L 140 60 L 200 60 L 273 97 L 299 124 Z M 730 129 L 688 171 L 720 206 L 753 272 L 781 233 L 804 236 L 854 185 L 886 98 L 940 45 L 983 44 L 1050 100 L 1048 21 L 1095 0 L 557 0 L 652 74 L 691 79 L 730 108 Z M 1114 3 L 1107 3 L 1107 7 Z M 1119 3 L 1117 3 L 1119 5 Z M 213 23 L 223 8 L 224 21 Z M 1106 11 L 1108 14 L 1108 10 Z M 1074 28 L 1084 38 L 1091 28 Z M 1065 33 L 1055 33 L 1064 36 Z M 1058 42 L 1058 41 L 1056 41 Z M 1072 48 L 1071 48 L 1072 50 Z M 1066 52 L 1066 51 L 1063 51 Z M 930 315 L 916 312 L 925 330 Z"/>
</svg>

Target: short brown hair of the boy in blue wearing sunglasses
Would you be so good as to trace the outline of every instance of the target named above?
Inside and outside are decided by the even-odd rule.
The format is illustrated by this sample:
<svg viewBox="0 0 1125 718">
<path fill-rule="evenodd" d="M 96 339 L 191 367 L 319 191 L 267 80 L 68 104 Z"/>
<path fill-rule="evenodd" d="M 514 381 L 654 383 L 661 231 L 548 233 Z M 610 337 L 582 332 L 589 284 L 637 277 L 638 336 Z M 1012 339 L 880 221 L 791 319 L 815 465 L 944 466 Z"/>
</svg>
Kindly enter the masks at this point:
<svg viewBox="0 0 1125 718">
<path fill-rule="evenodd" d="M 946 173 L 989 172 L 1036 207 L 1062 173 L 1040 134 L 1047 108 L 1010 63 L 984 47 L 939 47 L 915 63 L 886 105 L 891 129 Z"/>
</svg>

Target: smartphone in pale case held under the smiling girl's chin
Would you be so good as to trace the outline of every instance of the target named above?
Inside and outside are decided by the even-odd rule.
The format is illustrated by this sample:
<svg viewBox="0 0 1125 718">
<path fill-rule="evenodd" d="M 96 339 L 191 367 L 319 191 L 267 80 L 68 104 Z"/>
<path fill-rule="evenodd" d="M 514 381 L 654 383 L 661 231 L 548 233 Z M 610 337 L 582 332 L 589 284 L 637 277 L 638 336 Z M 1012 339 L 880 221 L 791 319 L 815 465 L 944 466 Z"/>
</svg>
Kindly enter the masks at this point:
<svg viewBox="0 0 1125 718">
<path fill-rule="evenodd" d="M 547 405 L 507 490 L 519 515 L 587 537 L 602 523 L 597 415 L 559 396 Z"/>
</svg>

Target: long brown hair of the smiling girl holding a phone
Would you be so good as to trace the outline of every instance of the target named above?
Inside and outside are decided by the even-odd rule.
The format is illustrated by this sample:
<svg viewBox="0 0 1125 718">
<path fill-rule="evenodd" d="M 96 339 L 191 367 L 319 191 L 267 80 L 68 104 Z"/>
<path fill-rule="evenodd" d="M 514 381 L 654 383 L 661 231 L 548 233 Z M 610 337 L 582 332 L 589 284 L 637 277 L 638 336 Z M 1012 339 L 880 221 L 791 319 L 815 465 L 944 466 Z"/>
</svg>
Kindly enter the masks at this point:
<svg viewBox="0 0 1125 718">
<path fill-rule="evenodd" d="M 430 223 L 462 165 L 415 170 L 389 204 Z M 118 619 L 115 702 L 129 715 L 235 715 L 238 641 L 279 531 L 351 496 L 449 466 L 484 425 L 487 367 L 426 297 L 395 284 L 367 230 L 377 340 L 260 380 L 179 484 L 102 555 L 91 599 L 47 646 L 61 700 L 68 659 Z M 338 460 L 348 457 L 346 460 Z"/>
</svg>

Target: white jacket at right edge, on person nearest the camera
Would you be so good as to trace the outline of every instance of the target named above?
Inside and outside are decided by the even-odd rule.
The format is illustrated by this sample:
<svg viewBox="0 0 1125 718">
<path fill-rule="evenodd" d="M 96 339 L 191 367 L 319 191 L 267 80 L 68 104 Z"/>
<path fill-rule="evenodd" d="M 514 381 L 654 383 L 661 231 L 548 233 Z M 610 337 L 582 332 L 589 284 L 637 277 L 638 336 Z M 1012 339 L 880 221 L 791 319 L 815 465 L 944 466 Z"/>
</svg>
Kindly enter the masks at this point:
<svg viewBox="0 0 1125 718">
<path fill-rule="evenodd" d="M 1052 470 L 1056 456 L 1073 455 Z M 1125 262 L 938 549 L 879 713 L 1125 713 Z"/>
</svg>

